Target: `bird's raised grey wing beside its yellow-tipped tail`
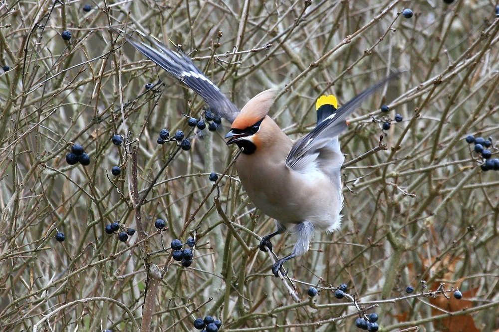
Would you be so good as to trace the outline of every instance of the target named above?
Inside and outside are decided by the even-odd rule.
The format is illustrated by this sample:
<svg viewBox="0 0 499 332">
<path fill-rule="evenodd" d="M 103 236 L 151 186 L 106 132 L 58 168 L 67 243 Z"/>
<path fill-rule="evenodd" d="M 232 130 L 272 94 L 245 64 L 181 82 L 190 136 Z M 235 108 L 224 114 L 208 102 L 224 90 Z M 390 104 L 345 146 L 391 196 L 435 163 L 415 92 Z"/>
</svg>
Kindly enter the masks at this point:
<svg viewBox="0 0 499 332">
<path fill-rule="evenodd" d="M 339 170 L 344 158 L 338 143 L 338 135 L 347 128 L 346 117 L 355 111 L 367 97 L 398 74 L 398 72 L 392 74 L 364 90 L 323 119 L 304 137 L 298 139 L 287 156 L 286 164 L 298 171 L 305 169 L 312 162 L 329 169 Z"/>
</svg>

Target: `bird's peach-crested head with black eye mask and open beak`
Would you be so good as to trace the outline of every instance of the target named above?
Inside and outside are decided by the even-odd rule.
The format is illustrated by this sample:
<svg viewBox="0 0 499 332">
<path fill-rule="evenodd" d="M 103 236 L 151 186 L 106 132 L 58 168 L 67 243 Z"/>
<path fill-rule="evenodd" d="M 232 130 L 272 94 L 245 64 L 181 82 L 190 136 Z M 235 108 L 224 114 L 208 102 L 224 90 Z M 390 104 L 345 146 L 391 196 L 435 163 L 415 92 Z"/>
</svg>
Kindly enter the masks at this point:
<svg viewBox="0 0 499 332">
<path fill-rule="evenodd" d="M 268 140 L 275 125 L 267 116 L 275 98 L 275 90 L 265 90 L 254 96 L 241 110 L 225 136 L 227 145 L 244 147 L 244 154 L 252 154 Z M 279 129 L 280 130 L 280 129 Z"/>
</svg>

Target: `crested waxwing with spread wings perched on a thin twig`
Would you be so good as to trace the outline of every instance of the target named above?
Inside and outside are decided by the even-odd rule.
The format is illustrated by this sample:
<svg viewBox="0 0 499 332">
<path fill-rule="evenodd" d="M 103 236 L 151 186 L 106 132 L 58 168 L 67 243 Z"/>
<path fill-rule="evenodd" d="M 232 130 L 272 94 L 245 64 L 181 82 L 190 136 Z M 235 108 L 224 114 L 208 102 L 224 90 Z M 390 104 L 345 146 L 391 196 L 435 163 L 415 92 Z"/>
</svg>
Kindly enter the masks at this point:
<svg viewBox="0 0 499 332">
<path fill-rule="evenodd" d="M 335 96 L 319 97 L 316 127 L 293 141 L 268 115 L 275 89 L 260 92 L 240 111 L 180 47 L 173 51 L 159 40 L 137 32 L 149 44 L 119 31 L 138 51 L 196 92 L 210 111 L 231 123 L 225 139 L 227 145 L 236 144 L 242 149 L 235 162 L 241 184 L 255 207 L 275 221 L 275 231 L 262 237 L 259 250 L 272 251 L 270 239 L 292 228 L 295 244 L 291 253 L 271 267 L 273 275 L 279 276 L 285 262 L 308 251 L 315 231 L 332 232 L 340 227 L 344 201 L 341 166 L 345 157 L 338 137 L 347 129 L 347 116 L 398 73 L 339 108 Z"/>
</svg>

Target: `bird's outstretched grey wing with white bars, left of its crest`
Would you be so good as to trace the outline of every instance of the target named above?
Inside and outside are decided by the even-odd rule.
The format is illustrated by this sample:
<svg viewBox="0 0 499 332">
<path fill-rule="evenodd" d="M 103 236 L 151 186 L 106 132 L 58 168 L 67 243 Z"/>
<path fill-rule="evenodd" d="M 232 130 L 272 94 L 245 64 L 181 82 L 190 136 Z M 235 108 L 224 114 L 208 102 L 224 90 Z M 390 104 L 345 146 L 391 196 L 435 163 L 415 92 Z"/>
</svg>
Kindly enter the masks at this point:
<svg viewBox="0 0 499 332">
<path fill-rule="evenodd" d="M 152 46 L 137 40 L 123 31 L 117 32 L 124 35 L 126 40 L 142 54 L 203 98 L 211 111 L 219 114 L 231 123 L 234 121 L 239 114 L 239 109 L 196 67 L 184 52 L 181 50 L 174 52 L 163 43 L 146 36 L 140 31 L 137 31 L 137 33 L 147 39 Z"/>
</svg>

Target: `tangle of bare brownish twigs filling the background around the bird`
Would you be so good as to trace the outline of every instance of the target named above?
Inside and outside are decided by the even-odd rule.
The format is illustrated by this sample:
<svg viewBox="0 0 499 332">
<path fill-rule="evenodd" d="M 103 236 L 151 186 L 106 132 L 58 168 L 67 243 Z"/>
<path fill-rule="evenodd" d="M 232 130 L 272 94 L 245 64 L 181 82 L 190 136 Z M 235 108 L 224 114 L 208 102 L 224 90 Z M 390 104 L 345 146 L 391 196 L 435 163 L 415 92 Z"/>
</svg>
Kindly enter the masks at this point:
<svg viewBox="0 0 499 332">
<path fill-rule="evenodd" d="M 4 2 L 0 330 L 193 331 L 194 319 L 210 314 L 224 331 L 356 331 L 356 307 L 334 297 L 341 283 L 360 306 L 379 305 L 368 313 L 380 316 L 382 331 L 499 329 L 499 177 L 481 170 L 482 157 L 464 140 L 492 137 L 497 158 L 496 4 Z M 404 8 L 414 15 L 404 18 Z M 188 127 L 183 114 L 201 118 L 202 100 L 110 27 L 181 47 L 239 107 L 277 88 L 270 115 L 292 138 L 314 127 L 321 94 L 341 105 L 404 71 L 349 119 L 346 162 L 373 153 L 343 169 L 341 229 L 317 234 L 311 250 L 287 264 L 286 283 L 301 302 L 257 250 L 258 236 L 274 225 L 228 167 L 236 153 L 223 139 L 229 123 L 216 132 Z M 390 111 L 382 113 L 385 104 Z M 183 130 L 191 150 L 158 145 L 163 128 Z M 115 134 L 124 138 L 120 147 L 111 143 Z M 66 164 L 74 143 L 89 166 Z M 122 169 L 117 177 L 113 166 Z M 158 218 L 168 229 L 155 229 Z M 104 232 L 113 221 L 139 231 L 120 242 Z M 64 242 L 54 239 L 56 229 Z M 197 240 L 194 261 L 182 267 L 168 248 L 189 236 Z M 283 256 L 292 241 L 283 235 L 273 244 Z M 464 299 L 428 294 L 441 283 Z M 415 293 L 405 293 L 408 285 Z M 310 286 L 317 297 L 307 297 Z"/>
</svg>

